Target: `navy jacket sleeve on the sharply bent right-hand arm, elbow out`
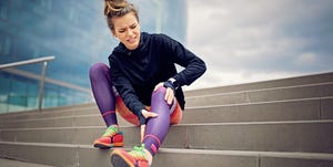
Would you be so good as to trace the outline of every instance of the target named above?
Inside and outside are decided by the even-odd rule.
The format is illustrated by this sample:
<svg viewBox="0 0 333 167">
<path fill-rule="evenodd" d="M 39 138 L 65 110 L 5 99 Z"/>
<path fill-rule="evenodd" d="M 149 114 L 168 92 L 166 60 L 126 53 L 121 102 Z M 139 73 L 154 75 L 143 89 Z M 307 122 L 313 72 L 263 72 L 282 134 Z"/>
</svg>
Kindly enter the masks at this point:
<svg viewBox="0 0 333 167">
<path fill-rule="evenodd" d="M 179 86 L 190 85 L 206 71 L 203 60 L 185 49 L 180 42 L 168 35 L 162 35 L 162 40 L 165 46 L 164 50 L 170 59 L 184 67 L 184 70 L 173 76 L 178 81 Z"/>
</svg>

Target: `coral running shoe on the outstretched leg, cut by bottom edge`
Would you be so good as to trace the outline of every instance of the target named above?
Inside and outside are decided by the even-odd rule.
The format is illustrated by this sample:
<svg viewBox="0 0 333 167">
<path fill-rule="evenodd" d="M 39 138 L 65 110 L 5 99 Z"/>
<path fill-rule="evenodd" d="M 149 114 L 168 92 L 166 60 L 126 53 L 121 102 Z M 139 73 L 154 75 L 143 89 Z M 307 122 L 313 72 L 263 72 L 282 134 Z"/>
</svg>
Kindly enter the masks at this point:
<svg viewBox="0 0 333 167">
<path fill-rule="evenodd" d="M 144 144 L 134 147 L 131 152 L 118 148 L 111 153 L 111 164 L 114 167 L 149 167 L 148 158 L 144 153 Z"/>
</svg>

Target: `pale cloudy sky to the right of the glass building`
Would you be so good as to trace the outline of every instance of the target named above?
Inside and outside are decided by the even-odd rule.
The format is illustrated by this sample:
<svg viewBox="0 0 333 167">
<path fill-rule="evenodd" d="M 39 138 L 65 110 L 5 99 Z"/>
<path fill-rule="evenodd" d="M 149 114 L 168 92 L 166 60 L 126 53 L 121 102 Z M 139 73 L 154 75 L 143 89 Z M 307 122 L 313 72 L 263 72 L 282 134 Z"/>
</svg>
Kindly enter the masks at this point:
<svg viewBox="0 0 333 167">
<path fill-rule="evenodd" d="M 189 0 L 188 90 L 333 72 L 333 0 Z"/>
</svg>

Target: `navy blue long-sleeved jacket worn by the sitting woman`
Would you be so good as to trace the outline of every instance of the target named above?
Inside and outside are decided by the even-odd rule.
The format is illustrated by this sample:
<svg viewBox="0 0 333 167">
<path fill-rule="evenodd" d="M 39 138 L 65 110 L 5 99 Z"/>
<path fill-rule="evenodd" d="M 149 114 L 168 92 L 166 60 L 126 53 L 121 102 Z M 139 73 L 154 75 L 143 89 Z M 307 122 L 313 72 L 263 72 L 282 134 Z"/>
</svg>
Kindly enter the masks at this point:
<svg viewBox="0 0 333 167">
<path fill-rule="evenodd" d="M 182 85 L 190 85 L 206 70 L 204 62 L 186 50 L 181 43 L 164 34 L 141 32 L 140 44 L 128 50 L 122 43 L 109 56 L 112 82 L 127 107 L 140 119 L 144 105 L 150 106 L 154 86 L 174 77 L 180 87 L 175 97 L 184 109 L 185 101 Z M 175 65 L 184 69 L 178 73 Z"/>
</svg>

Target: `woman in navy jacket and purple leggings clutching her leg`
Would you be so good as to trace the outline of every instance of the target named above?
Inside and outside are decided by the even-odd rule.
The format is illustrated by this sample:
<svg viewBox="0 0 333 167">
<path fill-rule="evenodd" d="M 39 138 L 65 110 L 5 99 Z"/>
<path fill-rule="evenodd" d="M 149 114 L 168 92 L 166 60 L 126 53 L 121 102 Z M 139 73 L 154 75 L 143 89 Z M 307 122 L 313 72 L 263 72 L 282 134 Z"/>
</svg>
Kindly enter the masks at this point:
<svg viewBox="0 0 333 167">
<path fill-rule="evenodd" d="M 200 77 L 205 64 L 168 35 L 141 32 L 138 11 L 128 1 L 105 0 L 104 14 L 120 43 L 109 56 L 110 69 L 102 63 L 90 69 L 92 92 L 108 126 L 93 145 L 123 146 L 118 112 L 128 122 L 140 125 L 142 146 L 129 153 L 114 149 L 111 163 L 115 167 L 147 167 L 170 125 L 182 118 L 185 102 L 181 86 Z M 185 69 L 178 73 L 174 64 Z"/>
</svg>

